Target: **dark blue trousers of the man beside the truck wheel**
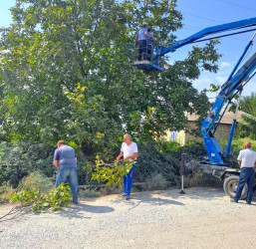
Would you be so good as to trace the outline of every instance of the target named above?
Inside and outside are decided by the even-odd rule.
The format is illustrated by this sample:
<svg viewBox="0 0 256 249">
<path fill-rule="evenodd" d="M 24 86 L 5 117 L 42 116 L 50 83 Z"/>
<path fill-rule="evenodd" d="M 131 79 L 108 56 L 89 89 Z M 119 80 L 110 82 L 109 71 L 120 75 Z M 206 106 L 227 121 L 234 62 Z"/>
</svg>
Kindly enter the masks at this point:
<svg viewBox="0 0 256 249">
<path fill-rule="evenodd" d="M 254 178 L 255 178 L 255 171 L 253 167 L 243 167 L 241 169 L 234 200 L 238 201 L 240 199 L 243 191 L 243 187 L 245 183 L 247 183 L 248 190 L 247 190 L 246 202 L 250 203 L 252 201 L 252 189 L 253 189 Z"/>
</svg>

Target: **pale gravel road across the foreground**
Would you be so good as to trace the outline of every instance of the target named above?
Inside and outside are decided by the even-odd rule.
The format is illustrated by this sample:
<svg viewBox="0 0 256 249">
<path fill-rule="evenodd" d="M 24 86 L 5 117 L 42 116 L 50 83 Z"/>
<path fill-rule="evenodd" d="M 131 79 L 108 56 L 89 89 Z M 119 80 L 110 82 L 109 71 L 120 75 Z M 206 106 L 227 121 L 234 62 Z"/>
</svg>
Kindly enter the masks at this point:
<svg viewBox="0 0 256 249">
<path fill-rule="evenodd" d="M 222 189 L 88 198 L 63 211 L 0 220 L 0 248 L 256 248 L 256 204 Z M 254 193 L 253 203 L 256 203 Z M 0 216 L 10 209 L 0 206 Z"/>
</svg>

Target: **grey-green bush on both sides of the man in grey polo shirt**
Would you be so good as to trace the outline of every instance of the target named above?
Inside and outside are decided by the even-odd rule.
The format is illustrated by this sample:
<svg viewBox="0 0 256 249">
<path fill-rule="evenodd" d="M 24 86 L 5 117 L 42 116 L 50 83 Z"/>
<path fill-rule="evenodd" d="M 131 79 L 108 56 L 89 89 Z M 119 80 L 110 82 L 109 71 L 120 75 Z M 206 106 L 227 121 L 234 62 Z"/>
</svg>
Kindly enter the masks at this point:
<svg viewBox="0 0 256 249">
<path fill-rule="evenodd" d="M 31 172 L 54 178 L 54 150 L 54 146 L 43 143 L 0 143 L 0 186 L 4 182 L 9 182 L 16 188 Z M 91 177 L 94 167 L 94 163 L 88 161 L 83 154 L 78 154 L 79 184 L 93 182 Z"/>
</svg>

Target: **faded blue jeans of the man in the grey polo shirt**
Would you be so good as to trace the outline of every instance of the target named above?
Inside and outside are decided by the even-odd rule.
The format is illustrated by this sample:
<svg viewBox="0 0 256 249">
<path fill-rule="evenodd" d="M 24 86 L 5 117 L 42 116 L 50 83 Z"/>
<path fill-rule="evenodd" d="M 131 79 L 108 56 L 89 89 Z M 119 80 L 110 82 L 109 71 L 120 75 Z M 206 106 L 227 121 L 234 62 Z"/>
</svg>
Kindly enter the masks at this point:
<svg viewBox="0 0 256 249">
<path fill-rule="evenodd" d="M 73 202 L 78 202 L 79 184 L 78 184 L 78 170 L 76 167 L 63 168 L 58 171 L 56 187 L 60 186 L 69 177 L 70 188 L 73 194 Z"/>
</svg>

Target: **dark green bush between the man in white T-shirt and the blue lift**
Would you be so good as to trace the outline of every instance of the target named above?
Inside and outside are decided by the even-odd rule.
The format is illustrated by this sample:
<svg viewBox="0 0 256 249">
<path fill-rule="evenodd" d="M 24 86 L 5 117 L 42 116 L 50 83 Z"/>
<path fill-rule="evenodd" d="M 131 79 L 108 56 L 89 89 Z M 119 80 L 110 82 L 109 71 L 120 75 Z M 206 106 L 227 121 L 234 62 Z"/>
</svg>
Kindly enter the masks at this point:
<svg viewBox="0 0 256 249">
<path fill-rule="evenodd" d="M 181 147 L 176 142 L 157 141 L 138 144 L 138 150 L 134 180 L 146 181 L 160 174 L 169 186 L 180 183 L 181 153 L 186 153 L 188 160 L 201 160 L 206 155 L 204 145 L 200 142 L 189 142 Z"/>
</svg>

